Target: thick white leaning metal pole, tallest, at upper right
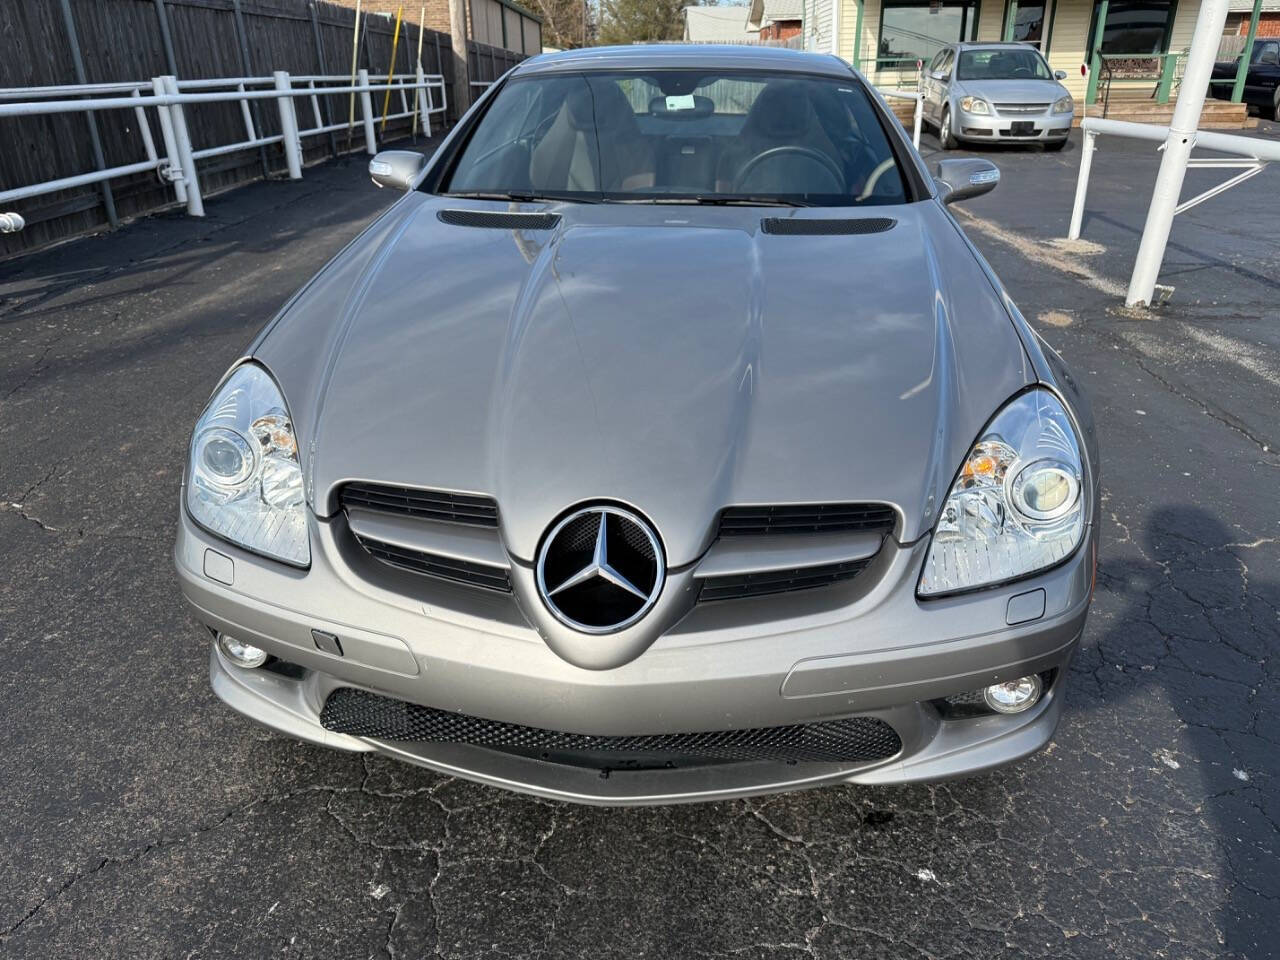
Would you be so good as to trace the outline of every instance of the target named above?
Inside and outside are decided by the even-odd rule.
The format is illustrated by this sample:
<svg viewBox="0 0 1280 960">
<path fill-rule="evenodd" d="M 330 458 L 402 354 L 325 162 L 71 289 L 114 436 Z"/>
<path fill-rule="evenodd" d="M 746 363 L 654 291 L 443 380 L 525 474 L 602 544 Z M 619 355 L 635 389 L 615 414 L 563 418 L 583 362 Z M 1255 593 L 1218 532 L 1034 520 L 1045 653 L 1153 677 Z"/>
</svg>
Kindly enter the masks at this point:
<svg viewBox="0 0 1280 960">
<path fill-rule="evenodd" d="M 1174 209 L 1183 192 L 1187 160 L 1196 145 L 1196 128 L 1204 109 L 1204 93 L 1213 73 L 1222 26 L 1226 23 L 1226 8 L 1228 0 L 1202 0 L 1199 15 L 1196 18 L 1196 32 L 1192 35 L 1192 47 L 1187 56 L 1187 72 L 1178 90 L 1174 119 L 1169 124 L 1169 140 L 1165 141 L 1165 155 L 1160 160 L 1156 188 L 1152 191 L 1151 207 L 1147 210 L 1147 224 L 1142 229 L 1142 243 L 1138 246 L 1138 259 L 1134 261 L 1129 293 L 1125 296 L 1128 306 L 1151 303 L 1156 292 L 1156 278 L 1165 260 Z"/>
</svg>

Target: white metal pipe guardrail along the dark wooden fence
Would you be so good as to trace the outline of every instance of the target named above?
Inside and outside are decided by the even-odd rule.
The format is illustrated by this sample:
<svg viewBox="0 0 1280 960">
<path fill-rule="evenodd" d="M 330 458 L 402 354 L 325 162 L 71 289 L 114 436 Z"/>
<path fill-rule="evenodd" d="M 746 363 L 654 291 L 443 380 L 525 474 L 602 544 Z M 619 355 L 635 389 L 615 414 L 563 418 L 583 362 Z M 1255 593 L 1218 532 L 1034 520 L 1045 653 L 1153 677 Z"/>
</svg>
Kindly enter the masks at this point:
<svg viewBox="0 0 1280 960">
<path fill-rule="evenodd" d="M 421 118 L 424 131 L 428 136 L 431 136 L 431 116 L 443 115 L 448 111 L 444 77 L 440 74 L 426 74 L 421 67 L 412 79 L 404 78 L 397 81 L 394 76 L 385 74 L 370 78 L 367 70 L 358 70 L 357 77 L 358 83 L 353 84 L 348 77 L 291 77 L 285 70 L 276 70 L 270 77 L 219 77 L 214 79 L 179 81 L 175 77 L 165 76 L 155 77 L 150 82 L 0 88 L 0 118 L 41 116 L 97 110 L 133 110 L 138 122 L 137 128 L 142 140 L 142 147 L 147 156 L 146 160 L 134 164 L 124 164 L 92 173 L 0 191 L 0 204 L 27 200 L 44 193 L 54 193 L 60 189 L 101 183 L 118 177 L 154 170 L 163 180 L 173 184 L 178 202 L 187 205 L 188 214 L 192 216 L 204 216 L 205 206 L 200 193 L 197 161 L 224 154 L 233 154 L 238 150 L 251 150 L 280 143 L 284 150 L 289 179 L 297 180 L 302 178 L 303 137 L 352 128 L 351 118 L 339 123 L 324 123 L 320 113 L 321 96 L 334 93 L 346 93 L 351 97 L 360 96 L 361 125 L 364 128 L 365 148 L 369 154 L 378 151 L 378 137 L 374 129 L 378 115 L 374 110 L 370 93 L 385 91 L 389 95 L 393 91 L 398 91 L 401 110 L 394 114 L 387 114 L 381 120 L 385 123 L 387 120 L 413 118 L 413 129 L 416 132 L 419 118 Z M 380 79 L 383 82 L 374 83 L 371 79 Z M 229 90 L 227 90 L 228 87 Z M 262 87 L 266 88 L 264 90 Z M 150 91 L 150 93 L 143 93 L 143 91 Z M 412 106 L 410 105 L 410 91 L 412 91 Z M 439 102 L 436 102 L 436 92 L 439 92 Z M 83 99 L 67 100 L 59 97 Z M 315 125 L 307 128 L 300 127 L 294 104 L 298 97 L 311 101 Z M 256 100 L 276 101 L 280 111 L 280 133 L 266 136 L 257 129 L 253 122 L 253 111 L 250 109 L 250 101 Z M 187 125 L 184 108 L 196 104 L 225 102 L 239 102 L 241 113 L 244 118 L 246 138 L 233 143 L 220 143 L 195 150 L 191 143 L 191 132 Z M 146 108 L 148 106 L 156 108 L 164 146 L 163 156 L 156 148 L 151 124 L 147 120 Z M 17 223 L 17 227 L 13 225 L 14 223 Z M 13 232 L 13 229 L 22 229 L 22 218 L 17 214 L 0 215 L 0 232 Z"/>
</svg>

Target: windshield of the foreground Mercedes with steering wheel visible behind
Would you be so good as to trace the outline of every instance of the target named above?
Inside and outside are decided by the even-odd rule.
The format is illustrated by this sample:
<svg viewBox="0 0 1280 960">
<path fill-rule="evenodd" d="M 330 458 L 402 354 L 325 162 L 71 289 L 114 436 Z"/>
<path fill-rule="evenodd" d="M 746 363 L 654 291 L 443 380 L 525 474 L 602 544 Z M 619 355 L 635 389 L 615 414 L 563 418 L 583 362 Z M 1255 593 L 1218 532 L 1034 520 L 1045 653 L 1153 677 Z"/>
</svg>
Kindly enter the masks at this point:
<svg viewBox="0 0 1280 960">
<path fill-rule="evenodd" d="M 785 206 L 906 198 L 888 136 L 852 77 L 685 69 L 512 79 L 442 192 Z"/>
</svg>

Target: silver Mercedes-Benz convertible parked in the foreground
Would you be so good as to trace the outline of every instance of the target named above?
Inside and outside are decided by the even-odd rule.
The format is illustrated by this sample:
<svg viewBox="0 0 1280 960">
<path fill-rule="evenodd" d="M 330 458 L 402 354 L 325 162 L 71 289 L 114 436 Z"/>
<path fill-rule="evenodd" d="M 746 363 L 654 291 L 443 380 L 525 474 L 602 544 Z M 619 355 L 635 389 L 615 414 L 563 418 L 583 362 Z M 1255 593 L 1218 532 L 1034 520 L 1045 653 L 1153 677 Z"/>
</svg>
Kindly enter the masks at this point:
<svg viewBox="0 0 1280 960">
<path fill-rule="evenodd" d="M 841 60 L 539 56 L 195 426 L 175 562 L 232 708 L 585 803 L 975 773 L 1052 736 L 1088 404 Z"/>
</svg>

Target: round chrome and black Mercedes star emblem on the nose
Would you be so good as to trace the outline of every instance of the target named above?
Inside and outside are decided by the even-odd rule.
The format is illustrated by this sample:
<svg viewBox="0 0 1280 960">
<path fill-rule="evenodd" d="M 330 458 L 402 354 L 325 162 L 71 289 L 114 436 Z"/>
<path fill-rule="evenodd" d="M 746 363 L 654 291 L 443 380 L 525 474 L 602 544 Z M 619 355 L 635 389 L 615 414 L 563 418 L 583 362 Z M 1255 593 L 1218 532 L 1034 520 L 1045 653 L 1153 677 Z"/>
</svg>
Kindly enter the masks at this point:
<svg viewBox="0 0 1280 960">
<path fill-rule="evenodd" d="M 666 566 L 653 529 L 621 507 L 584 507 L 550 529 L 538 552 L 538 593 L 584 634 L 640 620 L 662 593 Z"/>
</svg>

